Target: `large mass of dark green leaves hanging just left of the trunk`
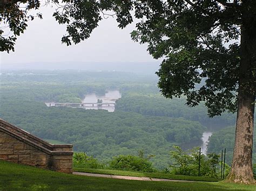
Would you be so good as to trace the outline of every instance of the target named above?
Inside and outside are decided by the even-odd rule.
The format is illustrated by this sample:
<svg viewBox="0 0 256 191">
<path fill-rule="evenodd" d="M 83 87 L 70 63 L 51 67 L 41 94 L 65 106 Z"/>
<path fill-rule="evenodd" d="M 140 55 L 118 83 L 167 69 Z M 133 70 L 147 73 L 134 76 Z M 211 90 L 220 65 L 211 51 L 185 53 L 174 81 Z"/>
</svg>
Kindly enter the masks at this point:
<svg viewBox="0 0 256 191">
<path fill-rule="evenodd" d="M 149 43 L 154 58 L 165 56 L 157 72 L 165 97 L 186 95 L 190 106 L 204 101 L 210 116 L 235 111 L 240 15 L 219 1 L 187 2 L 138 3 L 140 12 L 149 17 L 137 25 L 132 38 Z"/>
</svg>

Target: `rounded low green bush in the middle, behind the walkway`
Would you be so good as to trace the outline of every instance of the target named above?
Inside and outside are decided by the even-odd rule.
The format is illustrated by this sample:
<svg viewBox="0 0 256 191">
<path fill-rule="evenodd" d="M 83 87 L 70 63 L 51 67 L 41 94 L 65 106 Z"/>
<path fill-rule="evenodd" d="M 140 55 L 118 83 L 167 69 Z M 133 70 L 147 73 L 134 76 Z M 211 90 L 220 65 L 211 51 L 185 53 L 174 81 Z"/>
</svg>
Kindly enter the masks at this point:
<svg viewBox="0 0 256 191">
<path fill-rule="evenodd" d="M 118 155 L 110 161 L 110 167 L 122 171 L 154 172 L 152 162 L 135 155 Z"/>
</svg>

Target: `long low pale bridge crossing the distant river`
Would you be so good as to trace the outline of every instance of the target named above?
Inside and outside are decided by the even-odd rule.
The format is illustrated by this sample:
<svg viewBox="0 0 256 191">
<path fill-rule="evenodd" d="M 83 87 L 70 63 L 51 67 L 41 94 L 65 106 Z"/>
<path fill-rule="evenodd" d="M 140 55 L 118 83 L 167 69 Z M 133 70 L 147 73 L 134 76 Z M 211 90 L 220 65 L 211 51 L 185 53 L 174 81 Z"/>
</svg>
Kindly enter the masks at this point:
<svg viewBox="0 0 256 191">
<path fill-rule="evenodd" d="M 51 103 L 45 103 L 49 107 L 59 107 L 59 106 L 65 106 L 65 107 L 114 107 L 116 103 L 111 102 L 103 102 L 103 103 L 97 103 L 97 102 L 86 102 L 86 103 L 60 103 L 60 102 L 51 102 Z"/>
</svg>

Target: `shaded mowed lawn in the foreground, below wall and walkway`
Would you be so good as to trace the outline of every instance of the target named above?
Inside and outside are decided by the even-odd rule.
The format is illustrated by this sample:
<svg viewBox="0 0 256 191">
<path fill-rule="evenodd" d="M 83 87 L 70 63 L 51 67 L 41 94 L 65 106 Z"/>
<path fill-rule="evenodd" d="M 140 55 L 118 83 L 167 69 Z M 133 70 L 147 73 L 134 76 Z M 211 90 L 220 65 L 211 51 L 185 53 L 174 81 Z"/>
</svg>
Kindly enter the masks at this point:
<svg viewBox="0 0 256 191">
<path fill-rule="evenodd" d="M 223 182 L 158 182 L 57 173 L 0 160 L 0 190 L 255 190 Z"/>
</svg>

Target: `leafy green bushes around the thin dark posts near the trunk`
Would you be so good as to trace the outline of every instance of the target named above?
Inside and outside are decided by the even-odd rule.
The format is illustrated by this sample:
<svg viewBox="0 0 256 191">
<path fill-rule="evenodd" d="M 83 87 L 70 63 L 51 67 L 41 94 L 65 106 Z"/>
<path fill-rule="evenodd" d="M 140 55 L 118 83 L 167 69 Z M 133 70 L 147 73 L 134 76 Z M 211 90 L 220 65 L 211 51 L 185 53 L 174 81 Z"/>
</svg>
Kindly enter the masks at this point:
<svg viewBox="0 0 256 191">
<path fill-rule="evenodd" d="M 179 146 L 173 146 L 171 151 L 171 158 L 176 163 L 172 164 L 171 173 L 197 176 L 199 170 L 199 151 L 198 148 L 193 148 L 190 151 L 184 152 Z M 207 155 L 200 155 L 200 175 L 217 177 L 216 169 L 219 163 L 219 155 L 210 153 Z"/>
</svg>

